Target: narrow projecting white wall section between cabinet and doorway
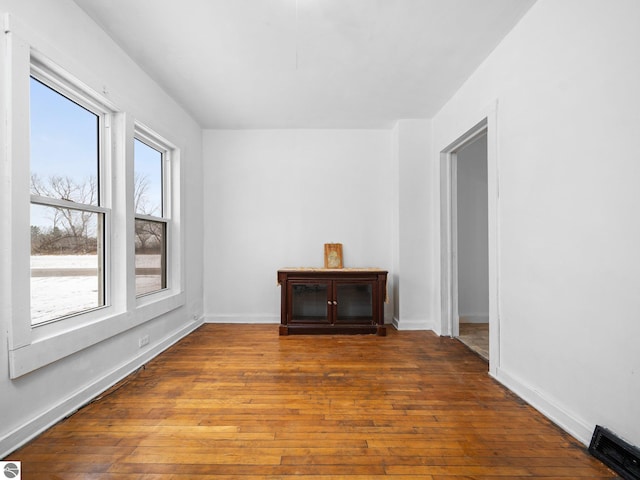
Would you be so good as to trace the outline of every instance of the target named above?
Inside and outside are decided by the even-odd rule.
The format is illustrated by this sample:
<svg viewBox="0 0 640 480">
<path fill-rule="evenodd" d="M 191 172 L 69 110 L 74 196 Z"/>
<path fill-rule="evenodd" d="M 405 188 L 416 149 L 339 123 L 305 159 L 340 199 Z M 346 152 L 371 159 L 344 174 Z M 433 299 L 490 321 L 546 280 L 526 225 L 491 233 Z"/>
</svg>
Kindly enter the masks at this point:
<svg viewBox="0 0 640 480">
<path fill-rule="evenodd" d="M 428 188 L 431 121 L 400 120 L 393 129 L 394 176 L 394 324 L 399 330 L 432 329 L 428 299 L 434 294 L 433 229 L 429 216 L 417 214 L 433 208 Z"/>
</svg>

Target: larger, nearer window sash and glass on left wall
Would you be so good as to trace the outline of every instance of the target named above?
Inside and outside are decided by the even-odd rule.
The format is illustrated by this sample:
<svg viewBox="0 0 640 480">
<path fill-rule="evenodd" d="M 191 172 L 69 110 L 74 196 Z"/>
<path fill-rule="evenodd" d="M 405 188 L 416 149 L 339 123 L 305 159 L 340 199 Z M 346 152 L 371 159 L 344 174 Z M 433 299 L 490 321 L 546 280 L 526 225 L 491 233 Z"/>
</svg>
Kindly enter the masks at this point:
<svg viewBox="0 0 640 480">
<path fill-rule="evenodd" d="M 105 305 L 104 116 L 83 103 L 30 78 L 32 325 Z"/>
</svg>

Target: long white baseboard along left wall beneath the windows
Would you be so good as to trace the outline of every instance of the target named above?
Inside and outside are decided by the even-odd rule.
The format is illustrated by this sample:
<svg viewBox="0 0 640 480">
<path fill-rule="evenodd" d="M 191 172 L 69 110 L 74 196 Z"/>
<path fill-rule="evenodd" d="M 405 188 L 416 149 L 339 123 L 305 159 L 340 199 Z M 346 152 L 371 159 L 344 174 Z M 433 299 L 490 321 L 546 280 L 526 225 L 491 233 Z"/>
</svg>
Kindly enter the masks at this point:
<svg viewBox="0 0 640 480">
<path fill-rule="evenodd" d="M 92 399 L 96 398 L 98 395 L 105 392 L 131 373 L 135 372 L 142 365 L 148 363 L 151 359 L 158 356 L 177 341 L 189 335 L 196 328 L 201 326 L 202 323 L 202 319 L 194 320 L 182 328 L 171 332 L 159 343 L 153 345 L 149 350 L 133 357 L 128 362 L 120 365 L 103 377 L 94 380 L 93 383 L 87 385 L 82 390 L 72 393 L 58 404 L 52 406 L 49 410 L 0 438 L 0 458 L 6 457 L 11 452 L 17 450 L 25 443 L 58 423 L 60 420 L 75 413 L 87 403 L 91 402 Z"/>
</svg>

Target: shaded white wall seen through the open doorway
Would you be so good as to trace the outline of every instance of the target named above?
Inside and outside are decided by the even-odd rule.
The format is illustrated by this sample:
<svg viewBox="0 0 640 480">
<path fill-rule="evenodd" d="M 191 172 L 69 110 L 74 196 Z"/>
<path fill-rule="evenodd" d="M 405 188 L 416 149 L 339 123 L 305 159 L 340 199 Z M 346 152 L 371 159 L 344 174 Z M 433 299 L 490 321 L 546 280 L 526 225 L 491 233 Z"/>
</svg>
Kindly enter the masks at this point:
<svg viewBox="0 0 640 480">
<path fill-rule="evenodd" d="M 489 321 L 487 136 L 457 152 L 458 315 Z"/>
</svg>

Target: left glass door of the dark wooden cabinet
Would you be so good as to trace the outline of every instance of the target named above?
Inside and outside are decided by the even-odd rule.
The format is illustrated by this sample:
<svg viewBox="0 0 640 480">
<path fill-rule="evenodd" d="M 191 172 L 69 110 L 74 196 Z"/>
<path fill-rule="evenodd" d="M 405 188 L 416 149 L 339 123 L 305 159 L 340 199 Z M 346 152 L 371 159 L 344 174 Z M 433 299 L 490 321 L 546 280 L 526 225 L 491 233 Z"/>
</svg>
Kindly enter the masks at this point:
<svg viewBox="0 0 640 480">
<path fill-rule="evenodd" d="M 291 283 L 290 323 L 329 323 L 329 283 Z"/>
</svg>

